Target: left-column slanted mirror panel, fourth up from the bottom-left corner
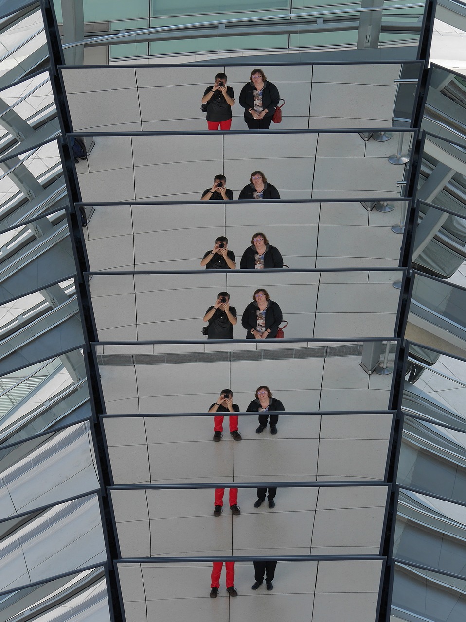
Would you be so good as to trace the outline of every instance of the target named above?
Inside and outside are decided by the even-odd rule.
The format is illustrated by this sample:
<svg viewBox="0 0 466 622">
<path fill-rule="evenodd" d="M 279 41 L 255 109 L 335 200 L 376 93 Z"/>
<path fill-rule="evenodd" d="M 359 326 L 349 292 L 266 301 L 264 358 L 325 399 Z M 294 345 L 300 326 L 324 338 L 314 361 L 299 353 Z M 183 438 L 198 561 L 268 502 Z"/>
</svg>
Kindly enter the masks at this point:
<svg viewBox="0 0 466 622">
<path fill-rule="evenodd" d="M 0 442 L 14 443 L 90 417 L 81 350 L 0 378 Z"/>
</svg>

